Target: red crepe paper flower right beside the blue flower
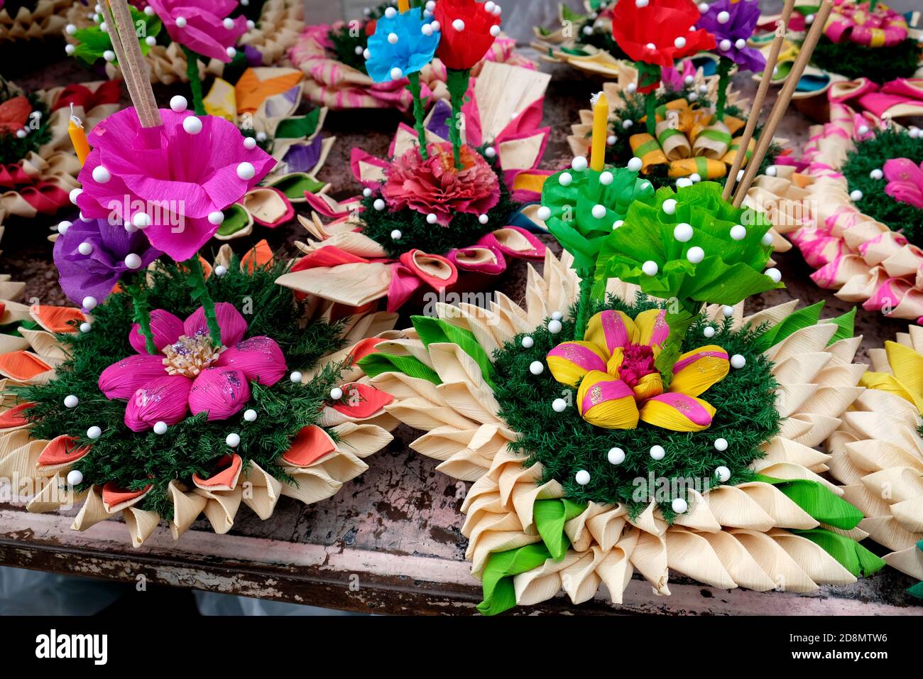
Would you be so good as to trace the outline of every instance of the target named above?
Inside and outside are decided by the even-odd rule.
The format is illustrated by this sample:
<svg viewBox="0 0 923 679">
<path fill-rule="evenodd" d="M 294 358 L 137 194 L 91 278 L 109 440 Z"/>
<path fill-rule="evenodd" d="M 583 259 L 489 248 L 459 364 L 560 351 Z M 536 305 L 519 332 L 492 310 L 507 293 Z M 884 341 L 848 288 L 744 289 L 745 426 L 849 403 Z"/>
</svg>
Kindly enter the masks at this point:
<svg viewBox="0 0 923 679">
<path fill-rule="evenodd" d="M 436 3 L 436 20 L 442 31 L 436 55 L 447 68 L 468 70 L 484 58 L 497 40 L 499 7 L 494 11 L 487 11 L 486 7 L 485 3 L 474 0 L 439 0 Z"/>
</svg>

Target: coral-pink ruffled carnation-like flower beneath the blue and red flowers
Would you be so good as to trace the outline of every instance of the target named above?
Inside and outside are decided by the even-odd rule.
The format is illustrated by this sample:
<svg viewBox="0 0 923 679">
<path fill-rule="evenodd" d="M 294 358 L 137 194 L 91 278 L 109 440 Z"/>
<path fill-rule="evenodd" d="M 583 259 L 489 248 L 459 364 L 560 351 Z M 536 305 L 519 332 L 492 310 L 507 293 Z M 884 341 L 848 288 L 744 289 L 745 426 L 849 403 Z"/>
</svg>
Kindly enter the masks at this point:
<svg viewBox="0 0 923 679">
<path fill-rule="evenodd" d="M 428 160 L 414 148 L 390 164 L 381 193 L 391 210 L 435 214 L 437 224 L 448 226 L 455 212 L 486 214 L 500 201 L 497 175 L 480 153 L 462 146 L 456 170 L 451 144 L 433 143 L 427 151 Z"/>
</svg>

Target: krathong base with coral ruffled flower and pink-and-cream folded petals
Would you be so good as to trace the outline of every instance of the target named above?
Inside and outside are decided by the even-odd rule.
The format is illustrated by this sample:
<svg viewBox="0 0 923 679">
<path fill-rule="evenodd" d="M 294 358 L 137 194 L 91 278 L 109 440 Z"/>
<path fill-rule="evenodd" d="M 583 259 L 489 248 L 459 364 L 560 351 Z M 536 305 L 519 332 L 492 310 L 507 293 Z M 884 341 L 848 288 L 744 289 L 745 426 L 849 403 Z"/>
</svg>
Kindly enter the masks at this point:
<svg viewBox="0 0 923 679">
<path fill-rule="evenodd" d="M 444 102 L 426 117 L 426 160 L 407 125 L 398 128 L 389 159 L 354 149 L 362 195 L 342 202 L 306 196 L 317 212 L 300 220 L 310 237 L 298 246 L 306 257 L 280 283 L 349 307 L 387 298 L 394 311 L 431 290 L 463 292 L 466 280 L 497 276 L 512 258 L 543 258 L 521 203 L 539 197 L 548 175 L 537 169 L 550 133 L 538 127 L 547 81 L 532 70 L 484 65 L 462 104 L 461 168 Z"/>
</svg>

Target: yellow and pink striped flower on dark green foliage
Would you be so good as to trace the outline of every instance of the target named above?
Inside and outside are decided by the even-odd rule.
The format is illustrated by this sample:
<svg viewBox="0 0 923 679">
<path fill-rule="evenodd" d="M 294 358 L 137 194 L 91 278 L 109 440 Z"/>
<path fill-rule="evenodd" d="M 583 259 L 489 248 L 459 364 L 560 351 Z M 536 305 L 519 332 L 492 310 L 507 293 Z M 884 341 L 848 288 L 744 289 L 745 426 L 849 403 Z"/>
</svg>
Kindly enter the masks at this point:
<svg viewBox="0 0 923 679">
<path fill-rule="evenodd" d="M 557 382 L 575 387 L 581 417 L 604 429 L 634 429 L 639 420 L 674 431 L 701 431 L 714 408 L 698 396 L 730 370 L 727 352 L 707 345 L 682 354 L 666 390 L 654 361 L 670 329 L 665 311 L 643 311 L 632 320 L 622 311 L 597 313 L 582 340 L 548 352 Z"/>
</svg>

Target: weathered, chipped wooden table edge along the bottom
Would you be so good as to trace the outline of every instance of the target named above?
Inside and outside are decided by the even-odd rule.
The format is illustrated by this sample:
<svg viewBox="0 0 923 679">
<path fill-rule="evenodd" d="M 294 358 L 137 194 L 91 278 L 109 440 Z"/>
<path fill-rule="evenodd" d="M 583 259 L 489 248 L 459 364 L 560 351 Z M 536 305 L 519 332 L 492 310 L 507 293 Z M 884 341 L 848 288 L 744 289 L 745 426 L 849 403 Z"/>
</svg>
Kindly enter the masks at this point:
<svg viewBox="0 0 923 679">
<path fill-rule="evenodd" d="M 86 533 L 70 530 L 69 523 L 65 516 L 0 509 L 0 564 L 354 612 L 466 615 L 477 612 L 475 606 L 481 599 L 480 583 L 471 576 L 466 562 L 206 531 L 189 531 L 186 539 L 174 542 L 163 528 L 145 546 L 132 549 L 126 543 L 125 527 L 117 522 L 102 522 Z M 560 595 L 514 613 L 923 614 L 915 607 L 869 600 L 863 581 L 811 594 L 722 590 L 672 582 L 670 589 L 672 596 L 657 597 L 650 585 L 634 579 L 621 605 L 605 600 L 604 587 L 579 607 Z"/>
</svg>

